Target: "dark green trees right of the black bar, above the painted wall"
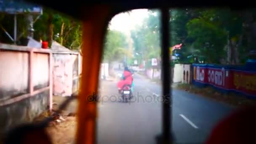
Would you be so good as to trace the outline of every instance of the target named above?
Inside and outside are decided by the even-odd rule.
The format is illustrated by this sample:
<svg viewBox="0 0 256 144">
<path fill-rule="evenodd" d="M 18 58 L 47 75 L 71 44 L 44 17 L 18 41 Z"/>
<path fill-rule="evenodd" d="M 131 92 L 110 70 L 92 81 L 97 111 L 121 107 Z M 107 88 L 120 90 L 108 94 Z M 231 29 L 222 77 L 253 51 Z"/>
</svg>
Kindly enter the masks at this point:
<svg viewBox="0 0 256 144">
<path fill-rule="evenodd" d="M 232 11 L 228 8 L 173 9 L 171 10 L 171 43 L 183 43 L 184 55 L 200 54 L 208 62 L 230 64 L 246 59 L 248 42 L 252 36 L 246 25 L 254 19 L 253 11 Z M 184 27 L 185 26 L 185 27 Z M 247 30 L 246 30 L 247 29 Z M 251 28 L 252 29 L 252 28 Z M 214 53 L 209 57 L 209 53 Z M 223 63 L 223 61 L 222 61 Z"/>
</svg>

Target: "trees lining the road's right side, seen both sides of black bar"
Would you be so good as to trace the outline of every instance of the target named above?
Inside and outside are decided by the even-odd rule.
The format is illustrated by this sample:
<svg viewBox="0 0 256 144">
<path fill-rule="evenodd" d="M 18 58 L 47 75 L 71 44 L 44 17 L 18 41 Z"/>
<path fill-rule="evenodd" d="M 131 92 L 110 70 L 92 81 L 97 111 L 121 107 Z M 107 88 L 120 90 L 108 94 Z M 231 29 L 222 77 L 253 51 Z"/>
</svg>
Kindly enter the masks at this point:
<svg viewBox="0 0 256 144">
<path fill-rule="evenodd" d="M 181 62 L 188 56 L 204 57 L 204 62 L 242 64 L 255 49 L 256 11 L 233 11 L 229 8 L 170 9 L 170 46 L 182 43 Z M 159 56 L 160 13 L 149 11 L 141 27 L 133 30 L 134 48 L 144 58 Z M 175 53 L 173 53 L 174 55 Z"/>
</svg>

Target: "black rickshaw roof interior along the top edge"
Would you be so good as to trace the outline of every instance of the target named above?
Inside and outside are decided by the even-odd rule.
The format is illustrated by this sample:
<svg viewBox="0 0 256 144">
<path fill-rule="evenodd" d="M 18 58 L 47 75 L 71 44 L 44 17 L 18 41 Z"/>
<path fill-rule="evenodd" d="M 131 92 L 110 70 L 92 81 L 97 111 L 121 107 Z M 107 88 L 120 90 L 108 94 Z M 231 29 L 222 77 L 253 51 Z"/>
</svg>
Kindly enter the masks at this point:
<svg viewBox="0 0 256 144">
<path fill-rule="evenodd" d="M 24 0 L 17 0 L 24 1 Z M 242 10 L 248 7 L 253 7 L 251 1 L 244 1 L 244 3 L 232 3 L 230 5 L 229 1 L 201 1 L 201 0 L 72 0 L 72 3 L 63 3 L 62 0 L 55 0 L 55 3 L 61 3 L 61 5 L 55 5 L 51 0 L 25 0 L 29 3 L 40 4 L 49 8 L 52 8 L 61 13 L 68 14 L 74 18 L 83 20 L 86 17 L 87 12 L 91 11 L 91 8 L 95 6 L 111 6 L 112 15 L 123 11 L 129 11 L 132 9 L 155 9 L 161 7 L 168 8 L 207 8 L 207 7 L 230 7 L 235 10 Z M 246 2 L 246 3 L 245 3 Z M 90 13 L 88 13 L 90 14 Z"/>
</svg>

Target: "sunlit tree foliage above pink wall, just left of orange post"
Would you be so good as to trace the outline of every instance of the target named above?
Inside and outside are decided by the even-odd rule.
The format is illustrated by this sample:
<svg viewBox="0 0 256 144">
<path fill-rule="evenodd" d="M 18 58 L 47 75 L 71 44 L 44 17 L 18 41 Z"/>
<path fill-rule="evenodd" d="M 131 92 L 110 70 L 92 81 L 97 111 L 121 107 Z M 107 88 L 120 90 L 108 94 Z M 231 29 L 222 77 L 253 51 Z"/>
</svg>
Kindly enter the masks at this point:
<svg viewBox="0 0 256 144">
<path fill-rule="evenodd" d="M 34 25 L 35 39 L 40 40 L 46 35 L 49 43 L 56 40 L 69 49 L 77 50 L 80 48 L 82 41 L 81 22 L 51 9 L 44 8 L 43 10 L 43 15 Z M 59 34 L 59 38 L 54 37 L 57 34 Z"/>
</svg>

